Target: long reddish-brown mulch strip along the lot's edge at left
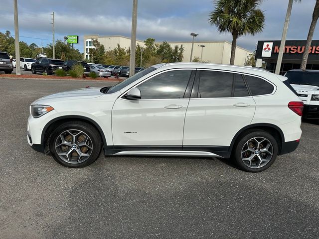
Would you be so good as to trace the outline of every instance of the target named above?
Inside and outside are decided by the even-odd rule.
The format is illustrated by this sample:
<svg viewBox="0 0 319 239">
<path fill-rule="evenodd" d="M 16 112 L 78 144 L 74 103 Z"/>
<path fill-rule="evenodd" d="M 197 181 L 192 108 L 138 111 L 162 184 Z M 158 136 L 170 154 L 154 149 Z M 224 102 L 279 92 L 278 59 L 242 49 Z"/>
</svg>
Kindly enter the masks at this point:
<svg viewBox="0 0 319 239">
<path fill-rule="evenodd" d="M 109 78 L 103 78 L 103 77 L 97 77 L 97 78 L 91 78 L 91 77 L 85 77 L 85 78 L 73 78 L 71 76 L 43 76 L 43 75 L 20 75 L 17 76 L 15 74 L 0 74 L 0 78 L 23 78 L 23 79 L 45 79 L 45 80 L 93 80 L 93 81 L 123 81 L 122 79 L 116 79 L 115 77 L 109 77 Z"/>
</svg>

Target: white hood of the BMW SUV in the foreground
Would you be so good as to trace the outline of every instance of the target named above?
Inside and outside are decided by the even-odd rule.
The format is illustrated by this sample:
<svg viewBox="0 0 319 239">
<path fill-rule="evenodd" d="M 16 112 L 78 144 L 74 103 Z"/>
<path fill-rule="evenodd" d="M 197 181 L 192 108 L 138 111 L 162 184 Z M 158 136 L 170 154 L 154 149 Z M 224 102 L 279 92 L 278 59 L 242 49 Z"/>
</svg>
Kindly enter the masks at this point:
<svg viewBox="0 0 319 239">
<path fill-rule="evenodd" d="M 56 93 L 49 96 L 44 96 L 36 101 L 34 101 L 31 105 L 35 104 L 48 104 L 49 102 L 53 101 L 60 101 L 60 100 L 75 100 L 75 99 L 89 99 L 89 98 L 96 98 L 102 96 L 103 93 L 100 92 L 102 87 L 90 87 L 90 88 L 82 88 L 78 90 L 72 91 L 65 91 L 61 93 Z"/>
</svg>

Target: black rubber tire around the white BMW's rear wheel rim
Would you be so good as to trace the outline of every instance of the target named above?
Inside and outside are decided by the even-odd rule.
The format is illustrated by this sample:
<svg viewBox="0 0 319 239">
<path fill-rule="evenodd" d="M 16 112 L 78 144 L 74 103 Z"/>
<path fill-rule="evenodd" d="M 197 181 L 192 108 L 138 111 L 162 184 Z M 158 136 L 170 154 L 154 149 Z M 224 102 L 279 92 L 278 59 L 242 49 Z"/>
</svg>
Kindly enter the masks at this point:
<svg viewBox="0 0 319 239">
<path fill-rule="evenodd" d="M 259 168 L 249 167 L 242 160 L 242 151 L 244 150 L 244 146 L 247 145 L 247 142 L 253 138 L 265 138 L 271 143 L 271 147 L 272 147 L 272 150 L 271 150 L 272 154 L 271 155 L 269 154 L 269 162 L 266 163 L 264 166 L 261 166 Z M 247 130 L 246 132 L 244 132 L 243 134 L 240 135 L 239 140 L 236 141 L 234 146 L 235 146 L 235 148 L 234 148 L 232 157 L 233 157 L 235 163 L 237 164 L 237 166 L 240 169 L 247 171 L 247 172 L 252 172 L 252 173 L 262 172 L 262 171 L 266 170 L 267 168 L 269 168 L 276 160 L 276 157 L 278 154 L 277 140 L 274 138 L 273 135 L 271 135 L 270 133 L 268 133 L 264 130 L 261 130 L 261 129 Z M 248 151 L 248 152 L 250 152 L 250 151 Z M 256 149 L 255 152 L 258 152 L 258 150 Z M 256 157 L 254 157 L 253 160 L 258 161 L 257 154 L 259 154 L 259 153 L 257 153 L 257 154 L 251 153 L 250 156 L 252 156 L 253 154 L 256 155 Z M 246 161 L 246 162 L 248 163 L 248 161 Z M 252 165 L 252 163 L 250 163 L 250 165 Z"/>
</svg>

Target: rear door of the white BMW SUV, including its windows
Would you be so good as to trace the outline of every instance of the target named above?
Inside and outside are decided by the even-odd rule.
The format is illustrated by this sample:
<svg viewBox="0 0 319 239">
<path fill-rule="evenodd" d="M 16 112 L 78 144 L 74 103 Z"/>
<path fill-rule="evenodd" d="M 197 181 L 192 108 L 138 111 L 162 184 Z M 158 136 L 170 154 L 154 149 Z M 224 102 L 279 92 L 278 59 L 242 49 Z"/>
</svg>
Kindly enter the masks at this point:
<svg viewBox="0 0 319 239">
<path fill-rule="evenodd" d="M 183 147 L 228 147 L 256 104 L 241 73 L 198 70 L 185 117 Z"/>
</svg>

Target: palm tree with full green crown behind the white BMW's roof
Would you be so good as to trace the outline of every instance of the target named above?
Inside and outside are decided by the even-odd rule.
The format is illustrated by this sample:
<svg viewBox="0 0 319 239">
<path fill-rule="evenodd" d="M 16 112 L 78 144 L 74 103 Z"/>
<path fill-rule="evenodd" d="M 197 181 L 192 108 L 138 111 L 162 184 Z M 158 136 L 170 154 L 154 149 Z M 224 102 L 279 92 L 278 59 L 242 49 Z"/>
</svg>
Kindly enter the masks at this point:
<svg viewBox="0 0 319 239">
<path fill-rule="evenodd" d="M 230 32 L 230 64 L 235 62 L 237 39 L 246 34 L 254 35 L 264 28 L 265 16 L 258 8 L 262 0 L 215 0 L 215 10 L 209 13 L 208 22 L 216 25 L 221 33 Z"/>
</svg>

